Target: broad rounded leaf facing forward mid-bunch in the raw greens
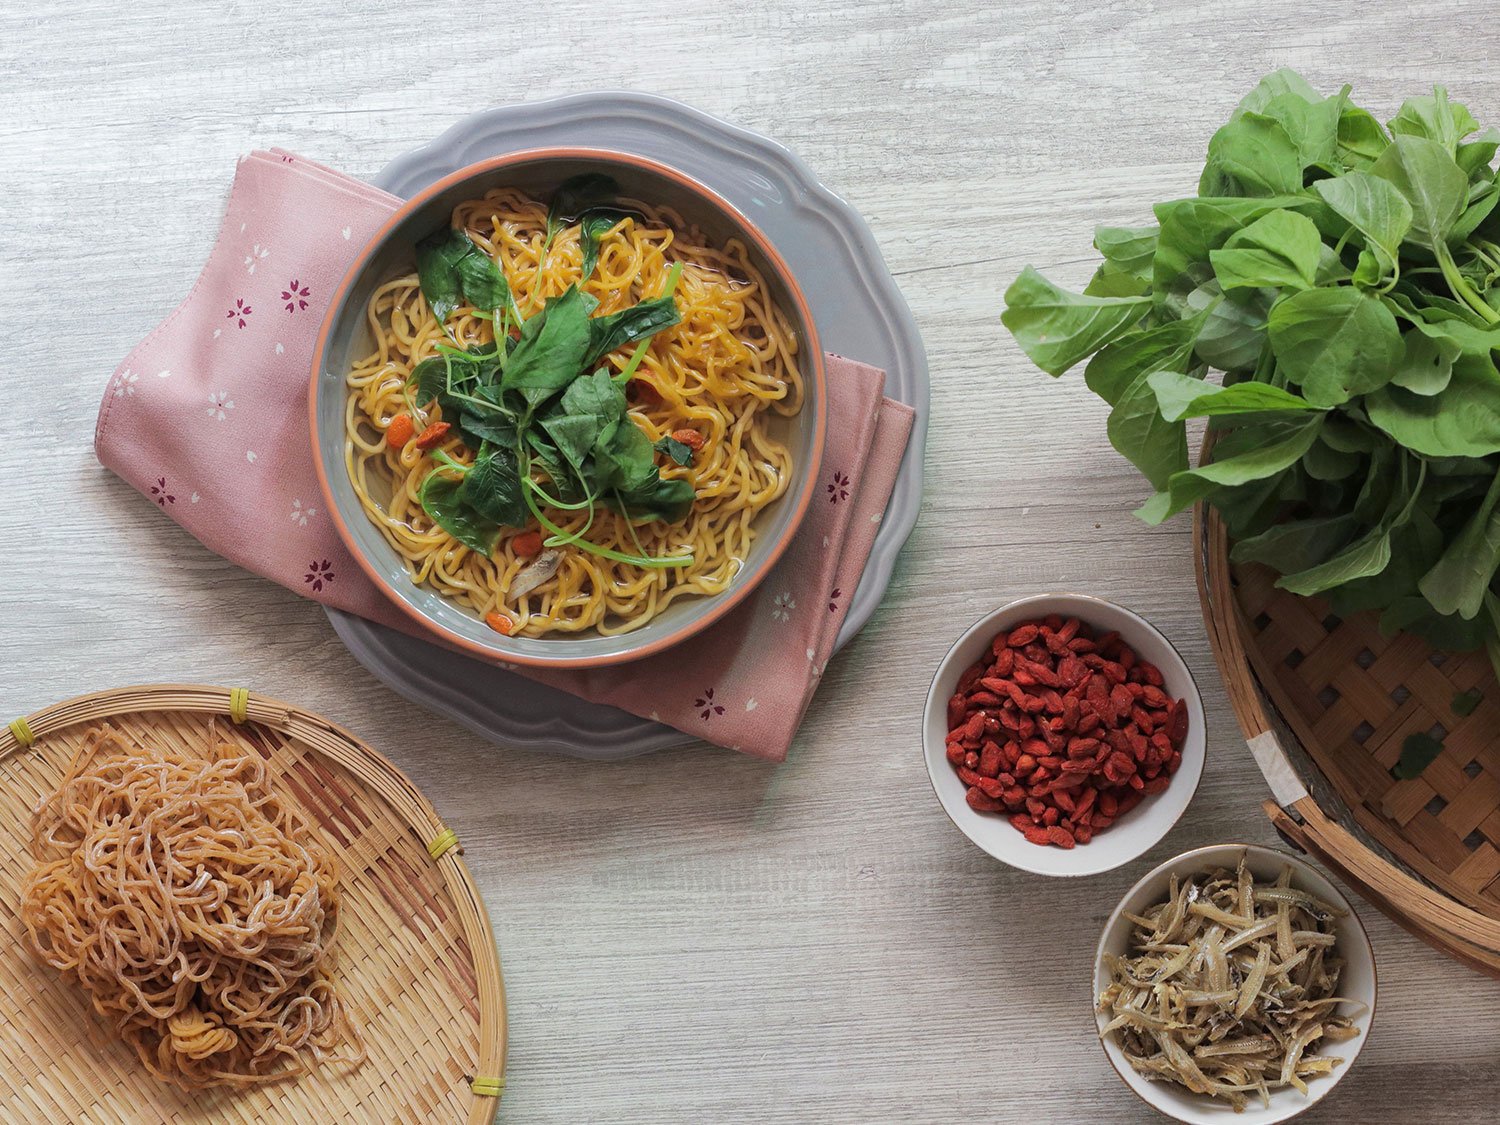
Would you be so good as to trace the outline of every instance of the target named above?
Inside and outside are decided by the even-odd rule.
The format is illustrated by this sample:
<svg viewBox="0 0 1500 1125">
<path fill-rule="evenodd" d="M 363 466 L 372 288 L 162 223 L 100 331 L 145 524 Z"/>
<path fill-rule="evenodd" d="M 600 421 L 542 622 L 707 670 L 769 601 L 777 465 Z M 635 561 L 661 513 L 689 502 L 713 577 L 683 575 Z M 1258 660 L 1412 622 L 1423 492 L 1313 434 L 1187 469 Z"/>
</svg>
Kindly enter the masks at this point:
<svg viewBox="0 0 1500 1125">
<path fill-rule="evenodd" d="M 1401 330 L 1378 298 L 1354 288 L 1304 290 L 1270 309 L 1270 346 L 1316 406 L 1336 406 L 1390 381 Z"/>
</svg>

